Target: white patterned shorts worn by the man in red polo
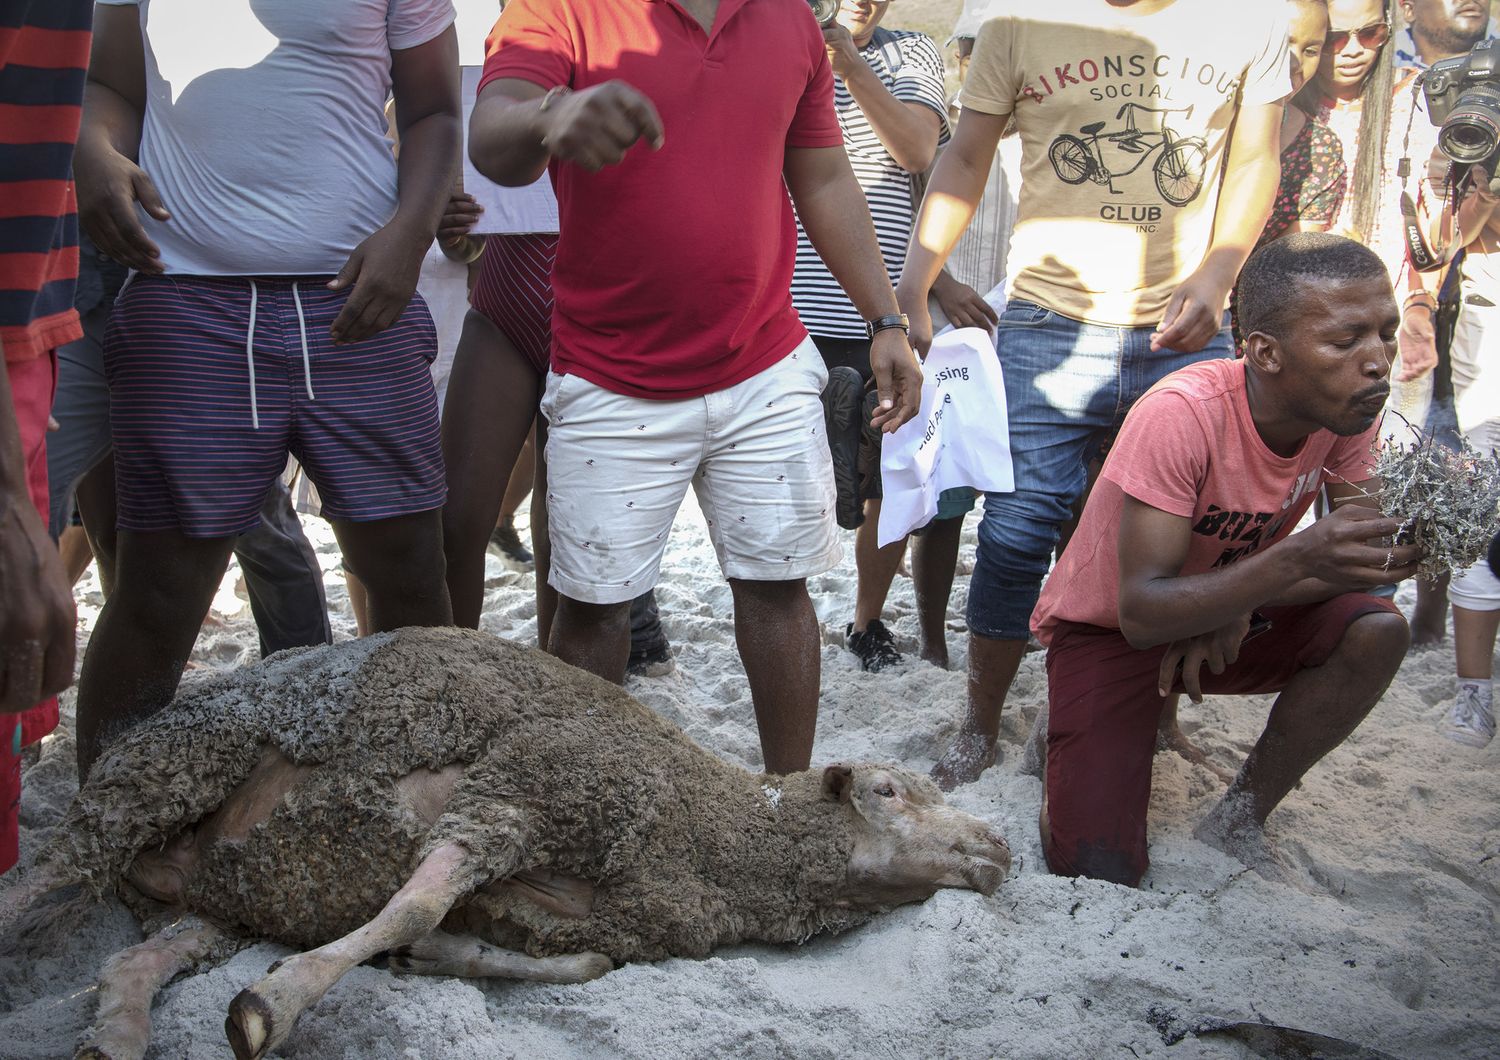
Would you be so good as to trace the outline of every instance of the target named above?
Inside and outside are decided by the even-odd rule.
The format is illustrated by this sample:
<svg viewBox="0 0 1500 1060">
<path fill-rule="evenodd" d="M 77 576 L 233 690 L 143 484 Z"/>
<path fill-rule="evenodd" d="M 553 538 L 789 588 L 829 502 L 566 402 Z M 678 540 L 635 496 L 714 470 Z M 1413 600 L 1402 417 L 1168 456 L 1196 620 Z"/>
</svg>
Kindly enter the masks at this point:
<svg viewBox="0 0 1500 1060">
<path fill-rule="evenodd" d="M 596 604 L 654 586 L 688 484 L 724 577 L 796 580 L 834 567 L 826 379 L 810 339 L 744 382 L 686 400 L 628 397 L 549 372 L 552 586 Z"/>
</svg>

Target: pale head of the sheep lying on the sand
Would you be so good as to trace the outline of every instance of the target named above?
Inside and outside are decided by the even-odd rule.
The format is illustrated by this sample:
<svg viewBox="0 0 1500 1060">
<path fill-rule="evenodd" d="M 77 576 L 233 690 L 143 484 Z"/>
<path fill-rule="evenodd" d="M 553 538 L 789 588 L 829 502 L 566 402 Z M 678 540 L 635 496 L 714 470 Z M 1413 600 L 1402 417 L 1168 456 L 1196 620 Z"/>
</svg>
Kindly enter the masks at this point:
<svg viewBox="0 0 1500 1060">
<path fill-rule="evenodd" d="M 874 765 L 824 771 L 824 798 L 854 820 L 849 894 L 856 907 L 930 898 L 940 888 L 993 894 L 1011 868 L 996 828 L 944 802 L 927 777 Z"/>
</svg>

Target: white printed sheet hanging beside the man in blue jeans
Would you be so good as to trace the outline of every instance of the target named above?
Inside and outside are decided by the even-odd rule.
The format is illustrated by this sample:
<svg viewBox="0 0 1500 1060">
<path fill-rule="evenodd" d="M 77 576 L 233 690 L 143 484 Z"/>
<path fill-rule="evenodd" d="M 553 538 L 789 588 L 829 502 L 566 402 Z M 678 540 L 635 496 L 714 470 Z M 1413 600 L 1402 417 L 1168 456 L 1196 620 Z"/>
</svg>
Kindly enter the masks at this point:
<svg viewBox="0 0 1500 1060">
<path fill-rule="evenodd" d="M 987 331 L 966 327 L 933 339 L 921 411 L 880 445 L 880 547 L 932 522 L 945 489 L 1016 489 L 1005 381 Z"/>
</svg>

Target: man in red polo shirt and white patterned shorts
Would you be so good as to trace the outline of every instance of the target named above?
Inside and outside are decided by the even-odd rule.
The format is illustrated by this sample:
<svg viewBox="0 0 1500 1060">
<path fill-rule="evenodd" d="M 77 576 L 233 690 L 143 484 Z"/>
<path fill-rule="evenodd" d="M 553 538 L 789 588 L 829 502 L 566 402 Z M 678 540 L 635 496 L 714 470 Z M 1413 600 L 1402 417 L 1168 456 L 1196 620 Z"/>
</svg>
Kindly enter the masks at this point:
<svg viewBox="0 0 1500 1060">
<path fill-rule="evenodd" d="M 806 769 L 820 652 L 806 579 L 840 549 L 826 370 L 790 298 L 792 202 L 870 322 L 876 424 L 909 420 L 921 390 L 806 0 L 512 0 L 470 151 L 504 184 L 549 169 L 558 195 L 554 654 L 624 679 L 628 601 L 656 583 L 692 484 L 765 766 Z"/>
</svg>

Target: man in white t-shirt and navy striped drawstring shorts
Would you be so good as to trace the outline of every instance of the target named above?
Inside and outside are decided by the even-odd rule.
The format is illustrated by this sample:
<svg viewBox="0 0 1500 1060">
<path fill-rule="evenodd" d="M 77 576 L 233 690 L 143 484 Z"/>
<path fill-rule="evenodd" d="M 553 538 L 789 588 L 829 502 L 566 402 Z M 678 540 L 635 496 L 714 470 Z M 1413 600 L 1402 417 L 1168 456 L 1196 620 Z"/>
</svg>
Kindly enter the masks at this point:
<svg viewBox="0 0 1500 1060">
<path fill-rule="evenodd" d="M 374 628 L 452 621 L 412 297 L 459 160 L 452 24 L 450 0 L 99 4 L 80 217 L 138 274 L 105 337 L 118 580 L 80 679 L 84 774 L 172 697 L 288 453 Z"/>
</svg>

